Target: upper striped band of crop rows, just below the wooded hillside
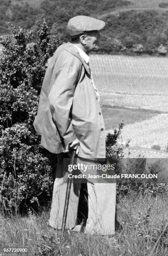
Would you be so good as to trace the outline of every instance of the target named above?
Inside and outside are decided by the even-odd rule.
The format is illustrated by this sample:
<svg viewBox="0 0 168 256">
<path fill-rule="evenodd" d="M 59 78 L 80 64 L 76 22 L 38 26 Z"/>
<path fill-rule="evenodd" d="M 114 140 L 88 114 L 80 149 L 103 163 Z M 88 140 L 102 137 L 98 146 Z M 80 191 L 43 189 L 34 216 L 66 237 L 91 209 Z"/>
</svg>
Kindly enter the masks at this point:
<svg viewBox="0 0 168 256">
<path fill-rule="evenodd" d="M 100 92 L 168 95 L 168 58 L 92 55 L 92 73 Z"/>
</svg>

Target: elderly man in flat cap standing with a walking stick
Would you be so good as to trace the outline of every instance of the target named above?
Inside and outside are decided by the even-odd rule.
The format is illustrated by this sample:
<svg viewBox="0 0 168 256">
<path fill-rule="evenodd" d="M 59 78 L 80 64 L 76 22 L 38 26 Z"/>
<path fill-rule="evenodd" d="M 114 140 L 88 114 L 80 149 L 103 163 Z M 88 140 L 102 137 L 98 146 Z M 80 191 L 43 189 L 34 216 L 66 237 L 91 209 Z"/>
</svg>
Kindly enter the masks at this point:
<svg viewBox="0 0 168 256">
<path fill-rule="evenodd" d="M 71 155 L 67 146 L 76 150 L 78 162 L 105 158 L 104 120 L 88 55 L 97 49 L 104 26 L 104 21 L 83 15 L 71 18 L 67 26 L 69 43 L 56 50 L 43 81 L 34 127 L 41 134 L 41 146 L 58 158 L 49 220 L 53 228 L 61 228 L 63 217 L 66 194 L 63 159 L 69 157 L 66 153 Z M 73 183 L 66 228 L 113 234 L 115 187 L 111 185 Z"/>
</svg>

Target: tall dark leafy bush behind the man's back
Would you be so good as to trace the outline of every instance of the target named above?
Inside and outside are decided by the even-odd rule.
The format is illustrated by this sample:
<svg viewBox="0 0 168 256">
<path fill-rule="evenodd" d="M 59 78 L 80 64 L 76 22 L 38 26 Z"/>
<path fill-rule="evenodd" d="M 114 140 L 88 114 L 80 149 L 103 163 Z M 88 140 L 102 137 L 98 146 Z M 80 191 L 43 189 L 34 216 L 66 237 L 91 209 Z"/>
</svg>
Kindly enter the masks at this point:
<svg viewBox="0 0 168 256">
<path fill-rule="evenodd" d="M 38 209 L 51 199 L 48 158 L 33 128 L 47 59 L 59 46 L 44 20 L 36 44 L 33 33 L 11 25 L 13 37 L 0 38 L 0 205 L 5 212 Z"/>
</svg>

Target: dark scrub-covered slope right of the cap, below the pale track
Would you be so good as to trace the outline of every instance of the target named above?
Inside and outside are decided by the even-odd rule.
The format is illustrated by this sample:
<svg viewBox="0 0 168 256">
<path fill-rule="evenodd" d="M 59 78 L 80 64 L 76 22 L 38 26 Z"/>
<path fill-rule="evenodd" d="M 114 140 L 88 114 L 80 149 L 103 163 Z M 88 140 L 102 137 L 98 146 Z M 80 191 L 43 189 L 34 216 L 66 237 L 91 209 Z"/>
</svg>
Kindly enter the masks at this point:
<svg viewBox="0 0 168 256">
<path fill-rule="evenodd" d="M 126 51 L 155 54 L 161 44 L 164 47 L 168 44 L 167 18 L 168 12 L 160 14 L 153 10 L 130 10 L 107 15 L 103 18 L 106 23 L 103 34 L 106 38 L 117 38 Z M 138 45 L 142 45 L 143 49 L 138 49 Z M 109 53 L 108 40 L 102 40 L 100 51 Z"/>
</svg>

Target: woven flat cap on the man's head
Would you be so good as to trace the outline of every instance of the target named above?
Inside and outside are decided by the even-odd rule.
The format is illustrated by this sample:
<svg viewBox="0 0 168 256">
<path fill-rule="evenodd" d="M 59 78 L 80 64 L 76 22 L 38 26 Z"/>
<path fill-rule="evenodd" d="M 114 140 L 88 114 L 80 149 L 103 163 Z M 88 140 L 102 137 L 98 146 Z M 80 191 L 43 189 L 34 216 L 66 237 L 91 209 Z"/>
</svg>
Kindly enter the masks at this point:
<svg viewBox="0 0 168 256">
<path fill-rule="evenodd" d="M 67 25 L 67 32 L 69 36 L 78 36 L 83 32 L 97 30 L 104 28 L 105 22 L 89 16 L 79 15 L 71 18 Z"/>
</svg>

